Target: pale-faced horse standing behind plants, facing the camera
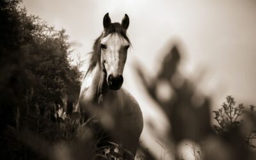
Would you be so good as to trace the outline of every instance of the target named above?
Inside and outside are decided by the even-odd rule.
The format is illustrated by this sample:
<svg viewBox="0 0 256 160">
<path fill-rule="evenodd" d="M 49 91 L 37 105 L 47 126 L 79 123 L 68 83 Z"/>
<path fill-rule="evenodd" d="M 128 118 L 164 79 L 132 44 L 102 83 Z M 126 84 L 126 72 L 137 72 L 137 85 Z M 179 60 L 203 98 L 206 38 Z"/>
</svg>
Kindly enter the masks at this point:
<svg viewBox="0 0 256 160">
<path fill-rule="evenodd" d="M 109 13 L 103 18 L 104 30 L 93 44 L 90 63 L 79 95 L 79 108 L 92 115 L 111 131 L 118 144 L 134 156 L 143 130 L 143 115 L 131 93 L 122 88 L 127 50 L 129 17 L 122 23 L 111 22 Z"/>
</svg>

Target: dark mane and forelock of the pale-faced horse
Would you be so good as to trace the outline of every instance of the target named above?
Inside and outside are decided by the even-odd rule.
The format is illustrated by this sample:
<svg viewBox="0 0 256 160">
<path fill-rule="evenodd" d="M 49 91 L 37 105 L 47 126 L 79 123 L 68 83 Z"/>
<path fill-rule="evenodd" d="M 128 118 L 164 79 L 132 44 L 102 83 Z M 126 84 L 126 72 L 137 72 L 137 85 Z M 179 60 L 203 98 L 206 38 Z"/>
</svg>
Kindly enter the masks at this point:
<svg viewBox="0 0 256 160">
<path fill-rule="evenodd" d="M 120 24 L 120 23 L 111 23 L 108 28 L 105 29 L 104 32 L 101 33 L 101 35 L 95 40 L 93 44 L 93 51 L 90 52 L 90 62 L 88 70 L 85 74 L 85 77 L 87 74 L 92 72 L 92 70 L 96 67 L 97 63 L 100 63 L 100 53 L 101 53 L 101 47 L 100 47 L 100 40 L 106 36 L 108 36 L 111 33 L 117 33 L 120 37 L 125 38 L 127 42 L 131 45 L 131 42 L 126 35 L 126 29 Z"/>
</svg>

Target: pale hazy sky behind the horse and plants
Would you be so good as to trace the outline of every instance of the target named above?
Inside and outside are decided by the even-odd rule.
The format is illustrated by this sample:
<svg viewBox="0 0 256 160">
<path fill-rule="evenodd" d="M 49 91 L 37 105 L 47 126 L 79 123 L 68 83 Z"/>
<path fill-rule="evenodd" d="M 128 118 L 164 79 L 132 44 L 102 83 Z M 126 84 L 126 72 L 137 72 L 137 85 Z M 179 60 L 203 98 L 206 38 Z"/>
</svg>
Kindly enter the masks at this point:
<svg viewBox="0 0 256 160">
<path fill-rule="evenodd" d="M 227 95 L 239 103 L 256 104 L 255 0 L 24 0 L 24 6 L 50 26 L 66 29 L 75 61 L 77 54 L 88 58 L 106 13 L 112 22 L 121 22 L 127 13 L 132 48 L 124 87 L 140 103 L 146 121 L 157 118 L 160 131 L 166 128 L 166 118 L 143 91 L 132 67 L 140 63 L 156 75 L 161 58 L 175 40 L 182 47 L 180 72 L 195 80 L 202 93 L 211 95 L 213 108 L 220 107 Z"/>
</svg>

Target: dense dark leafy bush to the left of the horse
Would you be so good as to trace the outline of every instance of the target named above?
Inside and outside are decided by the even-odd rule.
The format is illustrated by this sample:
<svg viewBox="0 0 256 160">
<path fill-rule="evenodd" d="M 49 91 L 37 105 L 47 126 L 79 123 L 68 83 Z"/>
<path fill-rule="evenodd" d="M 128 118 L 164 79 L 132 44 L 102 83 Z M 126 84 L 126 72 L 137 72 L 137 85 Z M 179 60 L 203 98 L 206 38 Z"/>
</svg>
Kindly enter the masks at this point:
<svg viewBox="0 0 256 160">
<path fill-rule="evenodd" d="M 69 117 L 65 125 L 54 118 L 58 109 L 72 112 L 81 86 L 79 65 L 70 65 L 68 59 L 65 29 L 56 31 L 28 15 L 20 3 L 0 2 L 1 143 L 8 144 L 1 145 L 1 159 L 39 159 L 19 142 L 28 142 L 28 136 L 18 136 L 24 130 L 55 143 L 79 128 Z"/>
</svg>

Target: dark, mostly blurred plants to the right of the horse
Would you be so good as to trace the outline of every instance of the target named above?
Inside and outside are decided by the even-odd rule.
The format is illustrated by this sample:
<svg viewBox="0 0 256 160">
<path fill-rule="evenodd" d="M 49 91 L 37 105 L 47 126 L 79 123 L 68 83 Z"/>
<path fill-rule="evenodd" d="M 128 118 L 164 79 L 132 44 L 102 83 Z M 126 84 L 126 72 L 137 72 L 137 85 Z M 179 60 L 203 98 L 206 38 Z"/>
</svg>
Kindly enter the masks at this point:
<svg viewBox="0 0 256 160">
<path fill-rule="evenodd" d="M 164 111 L 171 125 L 168 137 L 157 137 L 157 131 L 154 126 L 151 127 L 154 123 L 146 122 L 151 132 L 165 143 L 164 146 L 175 159 L 184 159 L 182 152 L 179 152 L 179 146 L 184 141 L 191 141 L 201 148 L 198 150 L 192 145 L 194 159 L 255 159 L 256 154 L 252 150 L 255 148 L 256 128 L 254 106 L 250 109 L 244 108 L 243 104 L 236 106 L 234 98 L 228 96 L 227 102 L 214 111 L 214 120 L 218 124 L 211 125 L 211 97 L 198 92 L 196 83 L 180 73 L 180 60 L 180 47 L 172 44 L 156 77 L 148 77 L 137 66 L 141 84 Z M 166 93 L 170 93 L 168 97 Z M 145 159 L 154 157 L 150 152 L 145 155 Z"/>
</svg>

